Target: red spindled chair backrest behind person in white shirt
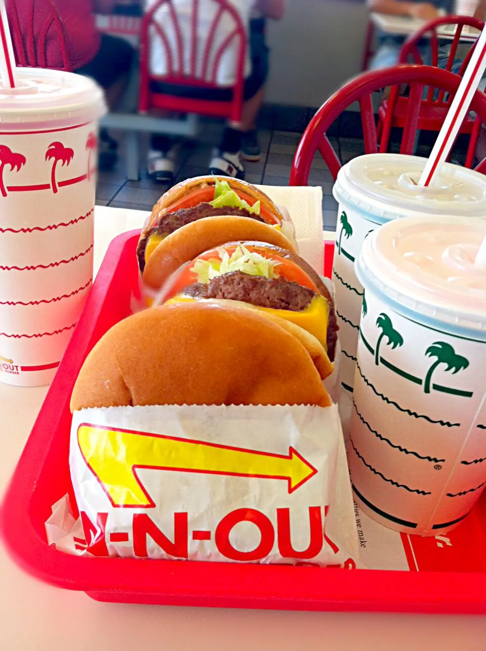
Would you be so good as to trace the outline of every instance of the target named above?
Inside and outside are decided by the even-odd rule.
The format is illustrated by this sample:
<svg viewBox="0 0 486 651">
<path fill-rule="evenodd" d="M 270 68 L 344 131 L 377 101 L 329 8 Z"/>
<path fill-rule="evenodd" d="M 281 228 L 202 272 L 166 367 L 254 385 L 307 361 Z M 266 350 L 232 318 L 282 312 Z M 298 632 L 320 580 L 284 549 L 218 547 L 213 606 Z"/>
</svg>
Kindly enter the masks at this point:
<svg viewBox="0 0 486 651">
<path fill-rule="evenodd" d="M 159 57 L 156 61 L 152 59 L 154 43 L 159 47 L 162 62 Z M 172 87 L 217 90 L 222 87 L 220 77 L 224 65 L 229 71 L 224 87 L 232 90 L 228 117 L 239 120 L 246 51 L 245 25 L 229 0 L 156 0 L 142 18 L 141 111 L 152 107 L 152 81 Z M 152 72 L 154 64 L 163 70 Z"/>
</svg>

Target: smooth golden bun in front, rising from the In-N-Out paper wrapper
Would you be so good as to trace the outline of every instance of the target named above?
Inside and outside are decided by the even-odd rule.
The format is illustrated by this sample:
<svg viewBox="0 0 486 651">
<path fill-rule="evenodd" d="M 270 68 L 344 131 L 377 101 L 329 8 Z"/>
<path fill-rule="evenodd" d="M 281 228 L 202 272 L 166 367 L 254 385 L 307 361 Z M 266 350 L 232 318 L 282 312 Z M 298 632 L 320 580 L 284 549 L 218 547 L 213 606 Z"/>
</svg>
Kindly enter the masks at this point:
<svg viewBox="0 0 486 651">
<path fill-rule="evenodd" d="M 178 303 L 129 316 L 89 353 L 71 409 L 159 404 L 329 406 L 301 341 L 246 307 Z"/>
</svg>

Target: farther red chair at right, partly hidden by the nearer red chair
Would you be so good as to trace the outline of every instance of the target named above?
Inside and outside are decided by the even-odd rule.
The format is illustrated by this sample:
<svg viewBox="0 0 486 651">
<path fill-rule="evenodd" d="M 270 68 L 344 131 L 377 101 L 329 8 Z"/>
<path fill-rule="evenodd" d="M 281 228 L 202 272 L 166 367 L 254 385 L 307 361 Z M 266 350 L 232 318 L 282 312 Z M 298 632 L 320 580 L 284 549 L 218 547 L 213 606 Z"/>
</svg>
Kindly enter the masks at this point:
<svg viewBox="0 0 486 651">
<path fill-rule="evenodd" d="M 401 48 L 400 51 L 399 63 L 412 62 L 416 64 L 424 64 L 424 49 L 421 45 L 424 43 L 424 39 L 427 38 L 430 44 L 430 47 L 427 48 L 431 57 L 430 62 L 432 66 L 437 68 L 439 66 L 439 48 L 441 44 L 444 44 L 444 37 L 440 35 L 440 30 L 444 29 L 447 25 L 457 25 L 452 41 L 447 42 L 450 44 L 450 51 L 444 67 L 444 70 L 452 71 L 452 66 L 457 54 L 457 47 L 459 46 L 465 28 L 473 27 L 474 29 L 482 30 L 484 27 L 483 21 L 478 20 L 477 18 L 472 18 L 471 16 L 446 16 L 444 18 L 437 18 L 436 20 L 424 25 L 424 27 L 416 31 L 407 39 L 407 41 L 405 41 L 405 44 L 403 44 L 403 48 Z M 469 51 L 461 64 L 461 68 L 456 72 L 459 76 L 463 76 L 475 47 L 476 40 L 471 41 Z M 449 106 L 450 98 L 446 96 L 446 93 L 443 90 L 439 92 L 439 94 L 434 94 L 433 89 L 429 87 L 427 98 L 420 107 L 418 130 L 439 132 Z M 386 151 L 392 128 L 403 128 L 408 111 L 409 99 L 400 95 L 399 87 L 394 87 L 392 92 L 390 92 L 389 98 L 383 100 L 378 111 L 380 119 L 378 129 L 380 150 Z M 463 122 L 461 133 L 471 134 L 474 128 L 474 119 L 467 118 Z M 474 155 L 474 152 L 472 153 Z M 472 159 L 466 161 L 466 164 L 470 167 L 472 165 Z"/>
</svg>

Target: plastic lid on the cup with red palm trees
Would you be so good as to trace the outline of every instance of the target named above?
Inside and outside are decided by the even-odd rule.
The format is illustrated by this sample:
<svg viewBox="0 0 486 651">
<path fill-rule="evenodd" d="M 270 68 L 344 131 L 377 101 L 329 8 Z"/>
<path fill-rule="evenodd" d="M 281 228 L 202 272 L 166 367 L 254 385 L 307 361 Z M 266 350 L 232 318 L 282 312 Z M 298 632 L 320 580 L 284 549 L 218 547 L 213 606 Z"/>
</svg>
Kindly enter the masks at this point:
<svg viewBox="0 0 486 651">
<path fill-rule="evenodd" d="M 18 68 L 18 87 L 0 85 L 0 128 L 26 124 L 68 126 L 92 122 L 106 113 L 103 90 L 88 77 L 72 72 Z"/>
</svg>

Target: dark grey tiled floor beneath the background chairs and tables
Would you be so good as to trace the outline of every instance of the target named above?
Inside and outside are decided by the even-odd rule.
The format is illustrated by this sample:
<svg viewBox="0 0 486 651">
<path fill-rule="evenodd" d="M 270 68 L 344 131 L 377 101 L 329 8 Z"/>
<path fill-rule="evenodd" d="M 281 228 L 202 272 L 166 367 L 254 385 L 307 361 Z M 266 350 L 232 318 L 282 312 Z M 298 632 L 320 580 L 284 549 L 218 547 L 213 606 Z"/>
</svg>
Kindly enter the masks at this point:
<svg viewBox="0 0 486 651">
<path fill-rule="evenodd" d="M 296 115 L 292 130 L 283 131 L 272 128 L 262 128 L 258 132 L 258 140 L 262 148 L 262 159 L 258 163 L 245 163 L 246 179 L 250 183 L 270 186 L 288 185 L 293 154 L 305 128 L 305 120 Z M 263 120 L 263 127 L 268 127 Z M 278 124 L 282 127 L 282 122 Z M 284 125 L 286 126 L 286 125 Z M 217 145 L 222 124 L 208 122 L 203 125 L 198 141 L 186 141 L 176 166 L 174 183 L 191 176 L 206 174 L 211 158 L 211 150 Z M 299 131 L 297 131 L 299 129 Z M 169 186 L 152 182 L 146 174 L 144 160 L 141 161 L 141 179 L 138 182 L 128 181 L 124 163 L 123 134 L 114 133 L 120 139 L 120 160 L 112 172 L 98 174 L 96 203 L 103 206 L 122 208 L 138 208 L 152 210 L 152 206 Z M 362 153 L 362 141 L 357 139 L 331 138 L 332 145 L 338 155 L 347 161 Z M 309 176 L 309 185 L 321 186 L 323 189 L 323 226 L 333 229 L 336 226 L 336 202 L 332 197 L 332 176 L 321 157 L 317 154 Z"/>
</svg>

